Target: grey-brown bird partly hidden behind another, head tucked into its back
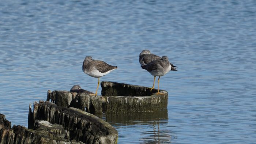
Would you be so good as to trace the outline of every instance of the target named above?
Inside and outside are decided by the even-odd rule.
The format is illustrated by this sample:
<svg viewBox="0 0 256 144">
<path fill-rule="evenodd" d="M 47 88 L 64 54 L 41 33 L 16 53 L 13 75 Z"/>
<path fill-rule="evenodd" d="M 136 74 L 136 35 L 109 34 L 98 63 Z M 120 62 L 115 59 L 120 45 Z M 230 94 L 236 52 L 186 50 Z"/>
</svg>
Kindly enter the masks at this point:
<svg viewBox="0 0 256 144">
<path fill-rule="evenodd" d="M 151 61 L 153 60 L 160 60 L 161 57 L 151 53 L 149 50 L 145 49 L 142 50 L 142 52 L 140 53 L 139 56 L 139 62 L 140 65 L 147 65 L 149 64 Z M 171 71 L 177 71 L 175 68 L 177 68 L 176 66 L 174 66 L 172 63 L 170 63 L 171 67 Z M 155 77 L 154 76 L 154 82 L 153 82 L 153 87 L 150 88 L 150 91 L 152 91 L 155 88 Z"/>
</svg>

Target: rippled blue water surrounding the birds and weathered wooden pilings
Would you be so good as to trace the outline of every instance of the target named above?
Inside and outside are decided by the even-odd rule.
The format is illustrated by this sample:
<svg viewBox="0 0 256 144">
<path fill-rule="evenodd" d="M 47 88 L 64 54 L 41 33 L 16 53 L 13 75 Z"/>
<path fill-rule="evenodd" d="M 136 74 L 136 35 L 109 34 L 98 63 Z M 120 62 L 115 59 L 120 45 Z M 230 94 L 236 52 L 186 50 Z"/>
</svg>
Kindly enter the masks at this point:
<svg viewBox="0 0 256 144">
<path fill-rule="evenodd" d="M 0 113 L 27 126 L 47 90 L 94 92 L 86 56 L 118 66 L 101 81 L 151 87 L 143 49 L 178 71 L 160 79 L 167 110 L 103 115 L 118 143 L 256 143 L 255 0 L 1 0 Z"/>
</svg>

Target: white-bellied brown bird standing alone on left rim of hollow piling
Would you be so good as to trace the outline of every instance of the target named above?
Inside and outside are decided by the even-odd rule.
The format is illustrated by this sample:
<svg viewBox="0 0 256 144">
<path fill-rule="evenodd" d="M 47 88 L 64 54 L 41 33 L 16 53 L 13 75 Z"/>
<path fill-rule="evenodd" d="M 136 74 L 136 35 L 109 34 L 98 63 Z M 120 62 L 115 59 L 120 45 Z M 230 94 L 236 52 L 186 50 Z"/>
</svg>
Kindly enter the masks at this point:
<svg viewBox="0 0 256 144">
<path fill-rule="evenodd" d="M 99 88 L 99 77 L 105 76 L 109 72 L 117 69 L 117 66 L 109 65 L 104 61 L 93 60 L 91 56 L 87 56 L 84 58 L 82 69 L 87 75 L 98 78 L 98 86 L 95 94 L 93 94 L 96 96 Z"/>
</svg>

